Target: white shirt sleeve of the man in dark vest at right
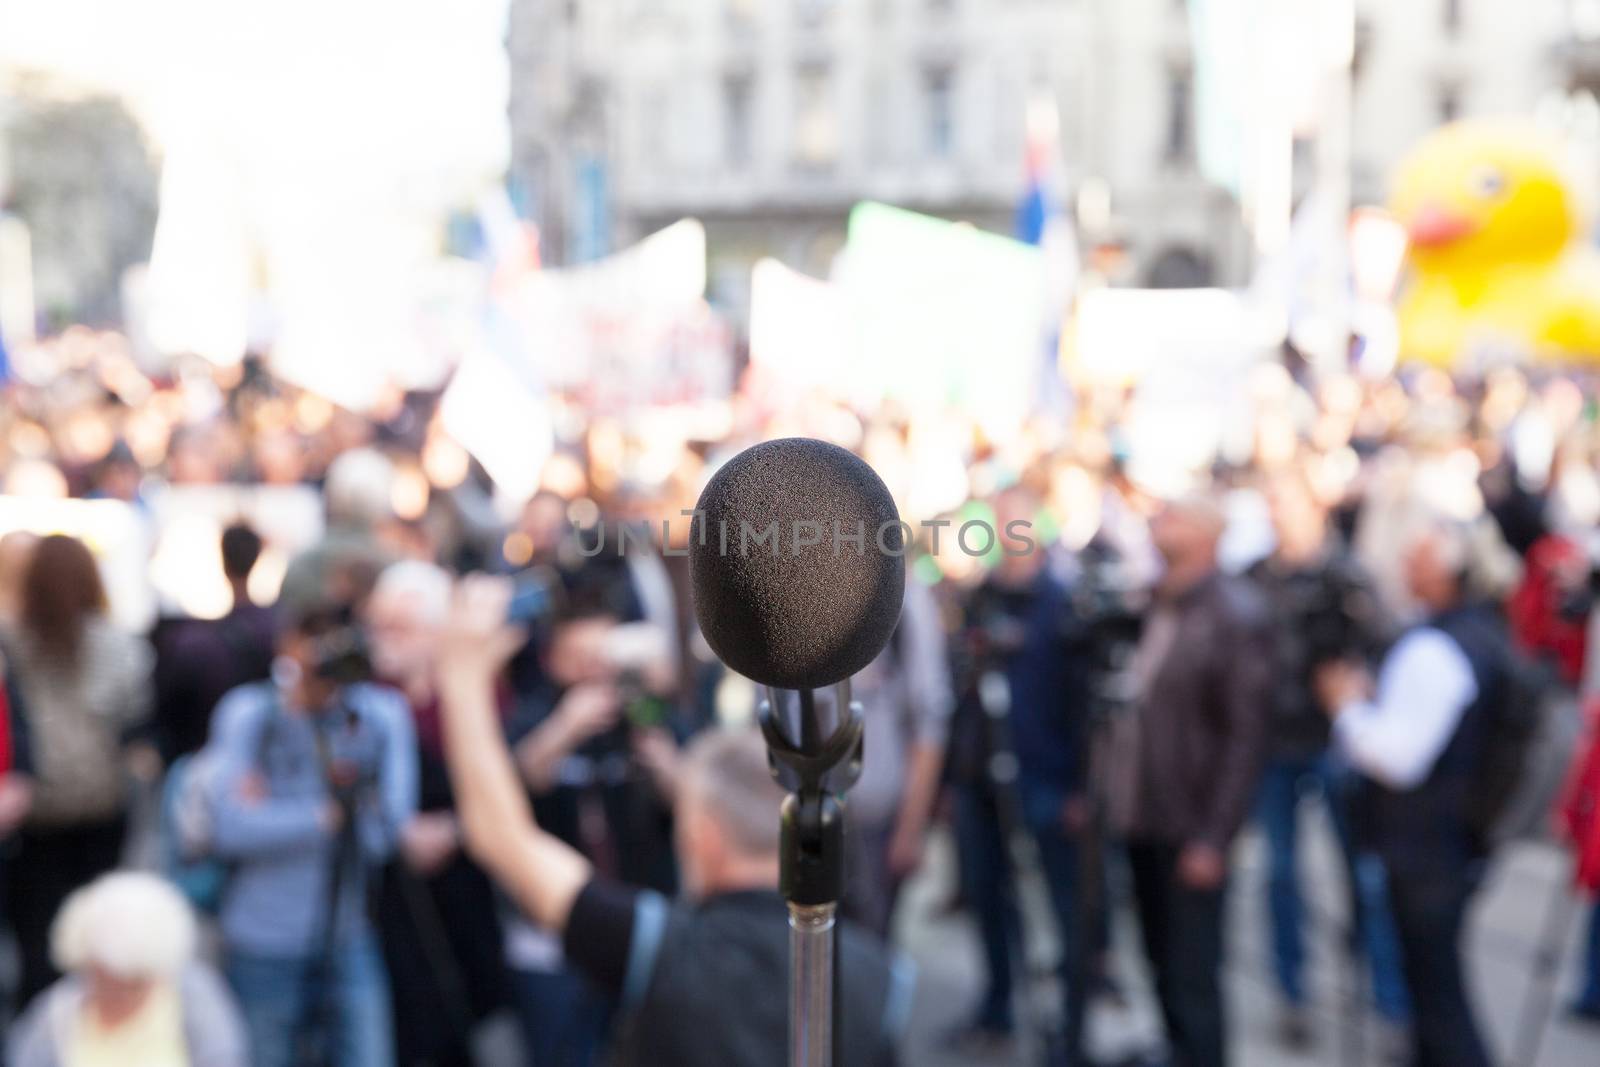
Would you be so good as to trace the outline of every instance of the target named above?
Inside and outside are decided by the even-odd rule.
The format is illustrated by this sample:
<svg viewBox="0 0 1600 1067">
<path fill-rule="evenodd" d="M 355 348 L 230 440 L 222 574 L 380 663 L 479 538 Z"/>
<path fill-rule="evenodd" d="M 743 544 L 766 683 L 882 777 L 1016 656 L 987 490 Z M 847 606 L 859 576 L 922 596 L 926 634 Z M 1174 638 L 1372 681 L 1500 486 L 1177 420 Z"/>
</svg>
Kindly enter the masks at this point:
<svg viewBox="0 0 1600 1067">
<path fill-rule="evenodd" d="M 1333 736 L 1360 771 L 1390 789 L 1427 779 L 1478 699 L 1472 664 L 1443 630 L 1402 637 L 1378 673 L 1378 696 L 1339 710 Z"/>
</svg>

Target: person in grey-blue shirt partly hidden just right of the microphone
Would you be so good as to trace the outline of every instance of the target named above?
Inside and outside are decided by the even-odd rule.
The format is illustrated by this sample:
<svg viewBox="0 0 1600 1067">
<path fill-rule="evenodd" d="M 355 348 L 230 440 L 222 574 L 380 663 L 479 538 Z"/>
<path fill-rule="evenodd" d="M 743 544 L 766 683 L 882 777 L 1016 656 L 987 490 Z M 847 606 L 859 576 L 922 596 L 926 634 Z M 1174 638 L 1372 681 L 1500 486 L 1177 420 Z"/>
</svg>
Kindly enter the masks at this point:
<svg viewBox="0 0 1600 1067">
<path fill-rule="evenodd" d="M 922 865 L 944 771 L 954 694 L 944 622 L 926 584 L 907 576 L 901 621 L 851 681 L 862 709 L 861 781 L 850 792 L 846 913 L 880 937 L 901 885 Z"/>
</svg>

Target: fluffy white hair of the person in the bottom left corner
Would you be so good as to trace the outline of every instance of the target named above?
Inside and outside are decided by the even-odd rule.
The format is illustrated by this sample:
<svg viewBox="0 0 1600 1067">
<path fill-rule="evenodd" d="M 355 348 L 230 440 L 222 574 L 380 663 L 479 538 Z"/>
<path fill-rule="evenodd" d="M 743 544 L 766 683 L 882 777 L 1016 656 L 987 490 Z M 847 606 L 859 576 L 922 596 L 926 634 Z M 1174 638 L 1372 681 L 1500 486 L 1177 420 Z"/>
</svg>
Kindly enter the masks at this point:
<svg viewBox="0 0 1600 1067">
<path fill-rule="evenodd" d="M 112 872 L 77 889 L 50 928 L 50 955 L 69 973 L 98 966 L 125 979 L 174 977 L 194 952 L 189 902 L 142 870 Z"/>
</svg>

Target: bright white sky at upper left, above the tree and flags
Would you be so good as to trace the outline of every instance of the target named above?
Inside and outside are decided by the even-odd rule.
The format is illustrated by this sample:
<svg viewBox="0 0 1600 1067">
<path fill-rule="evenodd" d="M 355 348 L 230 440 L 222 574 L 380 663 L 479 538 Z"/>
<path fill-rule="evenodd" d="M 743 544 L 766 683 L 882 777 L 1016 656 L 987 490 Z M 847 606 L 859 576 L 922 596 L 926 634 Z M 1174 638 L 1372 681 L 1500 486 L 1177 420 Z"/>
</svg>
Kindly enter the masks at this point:
<svg viewBox="0 0 1600 1067">
<path fill-rule="evenodd" d="M 6 0 L 0 70 L 130 98 L 158 144 L 370 162 L 446 192 L 504 168 L 506 0 Z"/>
</svg>

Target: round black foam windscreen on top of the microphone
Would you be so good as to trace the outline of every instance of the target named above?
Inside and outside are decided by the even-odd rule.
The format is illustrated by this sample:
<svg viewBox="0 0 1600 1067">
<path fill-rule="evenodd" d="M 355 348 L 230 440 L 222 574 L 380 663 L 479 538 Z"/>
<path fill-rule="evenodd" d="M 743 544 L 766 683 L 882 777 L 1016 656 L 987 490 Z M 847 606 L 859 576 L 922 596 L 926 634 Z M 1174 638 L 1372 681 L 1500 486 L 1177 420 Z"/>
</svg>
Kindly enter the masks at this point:
<svg viewBox="0 0 1600 1067">
<path fill-rule="evenodd" d="M 888 643 L 906 595 L 906 528 L 854 454 L 803 437 L 754 445 L 712 477 L 698 512 L 694 616 L 730 669 L 819 689 Z"/>
</svg>

